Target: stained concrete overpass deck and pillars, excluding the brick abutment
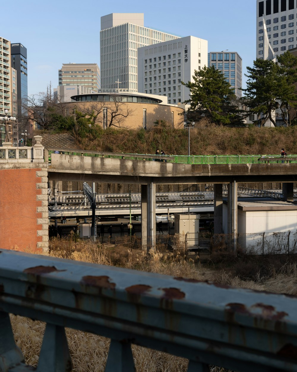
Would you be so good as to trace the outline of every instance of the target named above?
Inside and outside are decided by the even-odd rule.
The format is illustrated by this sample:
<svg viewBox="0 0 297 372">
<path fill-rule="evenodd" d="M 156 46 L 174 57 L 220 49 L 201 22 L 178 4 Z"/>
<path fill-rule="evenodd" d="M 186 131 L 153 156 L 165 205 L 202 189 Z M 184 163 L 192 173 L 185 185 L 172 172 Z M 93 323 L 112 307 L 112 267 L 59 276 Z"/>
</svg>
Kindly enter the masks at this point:
<svg viewBox="0 0 297 372">
<path fill-rule="evenodd" d="M 293 202 L 297 163 L 177 164 L 147 157 L 128 160 L 127 154 L 118 155 L 121 158 L 51 154 L 49 180 L 140 184 L 143 236 L 156 235 L 157 184 L 213 183 L 216 234 L 223 232 L 223 183 L 228 184 L 229 234 L 236 232 L 238 183 L 281 182 L 284 199 Z"/>
</svg>

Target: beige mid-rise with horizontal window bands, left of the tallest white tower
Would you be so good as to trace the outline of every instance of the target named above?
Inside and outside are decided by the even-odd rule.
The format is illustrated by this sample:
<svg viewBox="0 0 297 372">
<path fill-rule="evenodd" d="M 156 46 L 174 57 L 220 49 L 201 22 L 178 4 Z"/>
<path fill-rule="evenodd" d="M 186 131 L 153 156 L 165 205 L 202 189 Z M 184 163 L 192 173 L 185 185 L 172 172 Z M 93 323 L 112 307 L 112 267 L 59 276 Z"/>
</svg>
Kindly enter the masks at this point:
<svg viewBox="0 0 297 372">
<path fill-rule="evenodd" d="M 97 63 L 63 63 L 59 70 L 59 85 L 82 85 L 97 92 L 100 88 L 100 70 Z"/>
</svg>

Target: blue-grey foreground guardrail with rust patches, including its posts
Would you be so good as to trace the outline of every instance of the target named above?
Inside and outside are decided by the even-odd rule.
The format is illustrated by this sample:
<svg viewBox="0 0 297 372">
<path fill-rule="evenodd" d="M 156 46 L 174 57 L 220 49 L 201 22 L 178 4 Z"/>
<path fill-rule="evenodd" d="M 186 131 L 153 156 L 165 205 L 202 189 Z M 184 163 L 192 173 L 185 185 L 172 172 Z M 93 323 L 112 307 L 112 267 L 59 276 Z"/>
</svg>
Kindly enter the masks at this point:
<svg viewBox="0 0 297 372">
<path fill-rule="evenodd" d="M 37 371 L 71 371 L 64 327 L 111 339 L 105 372 L 135 371 L 131 343 L 241 372 L 297 371 L 297 298 L 0 251 L 0 371 L 32 371 L 9 313 L 46 322 Z"/>
</svg>

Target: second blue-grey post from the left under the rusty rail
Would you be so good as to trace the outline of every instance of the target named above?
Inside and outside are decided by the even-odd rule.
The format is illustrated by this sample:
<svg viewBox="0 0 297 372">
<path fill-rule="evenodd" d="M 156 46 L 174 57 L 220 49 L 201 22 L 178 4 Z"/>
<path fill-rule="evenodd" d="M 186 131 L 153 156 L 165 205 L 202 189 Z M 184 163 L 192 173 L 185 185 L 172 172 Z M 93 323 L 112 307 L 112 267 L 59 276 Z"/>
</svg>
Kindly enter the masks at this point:
<svg viewBox="0 0 297 372">
<path fill-rule="evenodd" d="M 47 323 L 36 372 L 70 372 L 72 370 L 65 329 Z"/>
</svg>

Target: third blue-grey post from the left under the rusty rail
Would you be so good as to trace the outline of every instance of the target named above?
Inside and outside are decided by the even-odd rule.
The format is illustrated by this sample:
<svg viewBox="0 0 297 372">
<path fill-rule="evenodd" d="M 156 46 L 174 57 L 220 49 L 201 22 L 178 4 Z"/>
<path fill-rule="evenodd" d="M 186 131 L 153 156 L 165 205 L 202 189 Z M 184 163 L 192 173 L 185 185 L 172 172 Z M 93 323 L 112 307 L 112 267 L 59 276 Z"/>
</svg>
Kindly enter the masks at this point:
<svg viewBox="0 0 297 372">
<path fill-rule="evenodd" d="M 111 340 L 105 372 L 135 372 L 130 342 Z"/>
</svg>

